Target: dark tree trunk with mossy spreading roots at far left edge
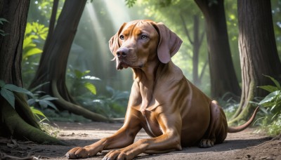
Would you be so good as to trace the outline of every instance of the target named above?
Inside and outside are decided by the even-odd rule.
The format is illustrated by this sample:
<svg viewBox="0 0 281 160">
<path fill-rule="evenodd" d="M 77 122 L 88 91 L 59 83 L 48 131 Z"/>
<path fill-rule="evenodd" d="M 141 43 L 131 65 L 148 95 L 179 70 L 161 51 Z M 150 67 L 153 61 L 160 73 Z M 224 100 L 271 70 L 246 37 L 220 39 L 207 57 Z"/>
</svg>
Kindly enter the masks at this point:
<svg viewBox="0 0 281 160">
<path fill-rule="evenodd" d="M 0 26 L 0 29 L 7 34 L 0 35 L 0 79 L 5 84 L 22 87 L 22 44 L 29 5 L 28 0 L 0 1 L 0 18 L 8 20 Z M 1 87 L 3 85 L 1 84 Z M 2 92 L 4 88 L 1 88 Z M 0 95 L 0 135 L 13 135 L 15 138 L 26 138 L 34 142 L 62 145 L 63 142 L 40 130 L 25 96 L 20 93 L 13 94 L 15 95 L 14 108 Z"/>
</svg>

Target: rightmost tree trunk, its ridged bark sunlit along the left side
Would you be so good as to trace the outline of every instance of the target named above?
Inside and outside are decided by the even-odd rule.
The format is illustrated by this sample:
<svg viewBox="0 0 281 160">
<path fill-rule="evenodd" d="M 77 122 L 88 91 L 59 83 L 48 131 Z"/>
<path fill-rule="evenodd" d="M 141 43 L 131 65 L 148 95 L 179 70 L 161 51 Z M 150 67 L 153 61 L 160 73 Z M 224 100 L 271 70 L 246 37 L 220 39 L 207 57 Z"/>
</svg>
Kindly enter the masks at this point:
<svg viewBox="0 0 281 160">
<path fill-rule="evenodd" d="M 281 64 L 277 54 L 270 1 L 239 0 L 239 51 L 242 68 L 242 98 L 235 116 L 247 116 L 250 101 L 268 94 L 256 86 L 272 84 L 266 76 L 280 79 Z"/>
</svg>

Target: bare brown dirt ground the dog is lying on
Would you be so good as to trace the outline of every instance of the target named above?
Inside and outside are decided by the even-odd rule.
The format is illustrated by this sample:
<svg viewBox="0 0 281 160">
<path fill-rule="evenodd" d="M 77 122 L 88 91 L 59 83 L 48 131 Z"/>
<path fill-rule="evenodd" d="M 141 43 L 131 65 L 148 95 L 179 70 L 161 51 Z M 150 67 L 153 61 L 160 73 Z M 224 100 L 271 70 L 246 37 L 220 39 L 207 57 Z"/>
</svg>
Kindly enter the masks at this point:
<svg viewBox="0 0 281 160">
<path fill-rule="evenodd" d="M 21 142 L 0 138 L 0 159 L 66 159 L 65 153 L 76 146 L 90 145 L 100 138 L 115 133 L 122 124 L 105 124 L 91 122 L 55 123 L 60 128 L 58 139 L 71 143 L 71 146 L 37 145 L 32 142 Z M 136 140 L 148 138 L 144 131 L 138 133 Z M 103 159 L 108 151 L 89 159 Z M 10 158 L 8 158 L 10 157 Z M 33 157 L 33 158 L 32 158 Z M 141 154 L 135 159 L 280 159 L 281 138 L 269 138 L 266 135 L 254 133 L 248 128 L 240 133 L 228 134 L 225 142 L 214 147 L 202 149 L 199 147 L 185 147 L 182 151 L 166 154 Z"/>
</svg>

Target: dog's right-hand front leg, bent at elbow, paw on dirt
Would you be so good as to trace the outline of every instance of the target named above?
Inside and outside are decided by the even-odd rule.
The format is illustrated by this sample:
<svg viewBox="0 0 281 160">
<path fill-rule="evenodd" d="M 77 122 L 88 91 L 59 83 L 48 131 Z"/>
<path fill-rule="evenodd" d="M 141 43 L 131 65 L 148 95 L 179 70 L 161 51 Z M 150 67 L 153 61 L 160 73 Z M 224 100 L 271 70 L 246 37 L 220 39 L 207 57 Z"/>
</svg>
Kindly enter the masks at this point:
<svg viewBox="0 0 281 160">
<path fill-rule="evenodd" d="M 159 116 L 161 117 L 161 116 Z M 112 150 L 103 160 L 133 159 L 141 153 L 158 154 L 181 150 L 181 116 L 176 114 L 158 119 L 163 134 L 156 138 L 138 140 L 128 147 Z"/>
</svg>

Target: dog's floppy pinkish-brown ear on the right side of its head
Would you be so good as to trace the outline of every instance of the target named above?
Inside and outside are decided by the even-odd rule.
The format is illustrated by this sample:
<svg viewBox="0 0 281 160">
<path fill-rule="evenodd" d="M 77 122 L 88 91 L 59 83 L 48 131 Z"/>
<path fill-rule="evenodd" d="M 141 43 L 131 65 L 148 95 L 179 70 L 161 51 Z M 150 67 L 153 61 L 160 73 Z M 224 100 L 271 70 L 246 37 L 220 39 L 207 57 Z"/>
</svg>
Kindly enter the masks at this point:
<svg viewBox="0 0 281 160">
<path fill-rule="evenodd" d="M 176 54 L 183 41 L 162 22 L 156 23 L 155 29 L 159 33 L 158 58 L 162 63 L 167 63 Z"/>
</svg>

